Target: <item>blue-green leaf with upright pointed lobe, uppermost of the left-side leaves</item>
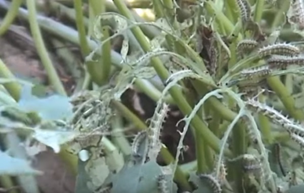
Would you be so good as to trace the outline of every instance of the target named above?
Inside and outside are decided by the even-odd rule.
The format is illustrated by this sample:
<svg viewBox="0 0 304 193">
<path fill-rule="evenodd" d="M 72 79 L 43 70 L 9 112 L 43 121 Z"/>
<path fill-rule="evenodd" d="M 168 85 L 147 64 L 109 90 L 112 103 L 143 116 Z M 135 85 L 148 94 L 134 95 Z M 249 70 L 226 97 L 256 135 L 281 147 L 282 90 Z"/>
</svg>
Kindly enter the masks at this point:
<svg viewBox="0 0 304 193">
<path fill-rule="evenodd" d="M 72 105 L 69 98 L 61 95 L 52 95 L 47 98 L 38 98 L 31 94 L 31 87 L 24 86 L 18 102 L 20 110 L 36 112 L 44 120 L 69 119 L 72 117 Z"/>
</svg>

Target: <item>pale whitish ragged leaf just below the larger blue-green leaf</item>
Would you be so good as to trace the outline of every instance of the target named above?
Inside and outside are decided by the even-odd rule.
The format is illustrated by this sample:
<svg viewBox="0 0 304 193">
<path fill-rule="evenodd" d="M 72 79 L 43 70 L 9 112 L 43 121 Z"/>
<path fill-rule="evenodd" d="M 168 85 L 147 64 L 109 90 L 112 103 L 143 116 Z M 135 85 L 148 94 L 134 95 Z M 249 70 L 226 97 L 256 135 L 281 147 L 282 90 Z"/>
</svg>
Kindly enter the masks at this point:
<svg viewBox="0 0 304 193">
<path fill-rule="evenodd" d="M 78 133 L 72 131 L 52 131 L 52 130 L 41 130 L 35 128 L 34 134 L 32 135 L 37 141 L 54 149 L 55 153 L 60 152 L 60 145 L 65 144 L 75 137 Z"/>
</svg>

